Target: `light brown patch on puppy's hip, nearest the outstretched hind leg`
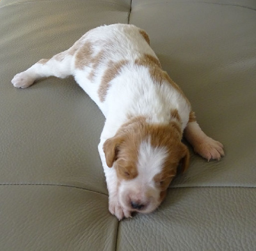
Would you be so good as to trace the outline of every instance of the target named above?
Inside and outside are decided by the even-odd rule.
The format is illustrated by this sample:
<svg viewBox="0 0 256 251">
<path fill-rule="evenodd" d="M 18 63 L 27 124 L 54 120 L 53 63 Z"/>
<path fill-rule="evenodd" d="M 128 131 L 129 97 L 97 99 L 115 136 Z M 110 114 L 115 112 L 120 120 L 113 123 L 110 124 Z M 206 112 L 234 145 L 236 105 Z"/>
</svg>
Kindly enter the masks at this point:
<svg viewBox="0 0 256 251">
<path fill-rule="evenodd" d="M 92 62 L 92 43 L 85 42 L 82 47 L 79 47 L 76 53 L 75 67 L 83 70 L 84 66 Z"/>
</svg>

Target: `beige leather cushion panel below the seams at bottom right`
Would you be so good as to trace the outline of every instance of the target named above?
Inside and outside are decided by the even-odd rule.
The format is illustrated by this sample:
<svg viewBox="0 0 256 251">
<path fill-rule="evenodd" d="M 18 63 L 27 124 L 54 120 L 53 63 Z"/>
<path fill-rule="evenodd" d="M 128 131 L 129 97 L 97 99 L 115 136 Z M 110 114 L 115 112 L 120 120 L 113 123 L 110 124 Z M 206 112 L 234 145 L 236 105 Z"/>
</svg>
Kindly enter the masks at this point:
<svg viewBox="0 0 256 251">
<path fill-rule="evenodd" d="M 119 225 L 117 250 L 254 250 L 254 208 L 253 188 L 172 188 L 157 211 Z"/>
</svg>

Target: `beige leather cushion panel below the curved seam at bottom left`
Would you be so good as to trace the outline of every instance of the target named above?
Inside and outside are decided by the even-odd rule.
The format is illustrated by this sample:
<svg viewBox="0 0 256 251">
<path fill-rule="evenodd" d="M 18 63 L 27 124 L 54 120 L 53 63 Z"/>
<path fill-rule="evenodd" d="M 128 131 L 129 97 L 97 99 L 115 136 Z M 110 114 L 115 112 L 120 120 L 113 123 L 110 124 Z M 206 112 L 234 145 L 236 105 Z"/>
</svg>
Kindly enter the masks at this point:
<svg viewBox="0 0 256 251">
<path fill-rule="evenodd" d="M 6 185 L 0 193 L 3 251 L 115 248 L 118 222 L 106 195 L 51 185 Z"/>
</svg>

